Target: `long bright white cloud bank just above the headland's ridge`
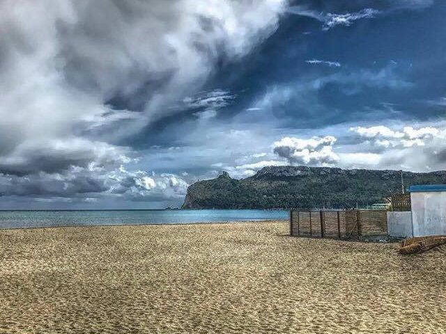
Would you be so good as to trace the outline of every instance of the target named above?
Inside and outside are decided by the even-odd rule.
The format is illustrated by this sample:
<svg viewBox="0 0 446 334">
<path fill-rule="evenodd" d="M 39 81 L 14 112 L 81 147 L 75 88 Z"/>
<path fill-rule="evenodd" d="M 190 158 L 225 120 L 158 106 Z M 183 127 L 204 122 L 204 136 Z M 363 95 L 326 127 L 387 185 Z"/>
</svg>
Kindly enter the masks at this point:
<svg viewBox="0 0 446 334">
<path fill-rule="evenodd" d="M 392 125 L 392 127 L 378 125 L 351 127 L 351 129 L 345 126 L 334 126 L 322 131 L 336 134 L 336 137 L 284 136 L 272 145 L 268 145 L 268 142 L 265 145 L 261 143 L 259 150 L 262 148 L 262 151 L 266 152 L 264 148 L 269 146 L 273 152 L 245 154 L 238 159 L 226 156 L 222 160 L 224 162 L 213 165 L 216 169 L 215 176 L 222 170 L 226 170 L 231 177 L 249 177 L 266 166 L 309 165 L 398 170 L 403 168 L 421 172 L 443 170 L 446 164 L 444 124 L 441 127 L 433 127 L 430 124 L 410 126 L 400 124 L 399 126 Z M 307 130 L 307 132 L 318 133 L 316 130 Z M 351 132 L 355 132 L 358 137 L 352 137 Z M 359 136 L 358 132 L 362 136 Z M 254 134 L 250 135 L 252 138 L 257 138 Z M 251 142 L 255 140 L 251 139 Z M 236 148 L 237 141 L 232 145 Z M 274 153 L 275 157 L 271 153 Z M 259 159 L 264 158 L 259 155 L 267 158 Z"/>
</svg>

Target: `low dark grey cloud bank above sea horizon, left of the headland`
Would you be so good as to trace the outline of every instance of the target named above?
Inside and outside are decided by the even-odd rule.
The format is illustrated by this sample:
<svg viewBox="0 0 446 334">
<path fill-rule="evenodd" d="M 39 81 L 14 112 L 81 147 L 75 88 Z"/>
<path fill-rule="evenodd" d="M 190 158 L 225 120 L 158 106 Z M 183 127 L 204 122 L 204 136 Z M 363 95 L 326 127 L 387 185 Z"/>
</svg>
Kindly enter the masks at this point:
<svg viewBox="0 0 446 334">
<path fill-rule="evenodd" d="M 128 171 L 121 167 L 105 172 L 102 168 L 72 167 L 66 173 L 36 173 L 20 177 L 0 173 L 0 196 L 33 198 L 109 197 L 182 198 L 187 183 L 178 175 Z"/>
</svg>

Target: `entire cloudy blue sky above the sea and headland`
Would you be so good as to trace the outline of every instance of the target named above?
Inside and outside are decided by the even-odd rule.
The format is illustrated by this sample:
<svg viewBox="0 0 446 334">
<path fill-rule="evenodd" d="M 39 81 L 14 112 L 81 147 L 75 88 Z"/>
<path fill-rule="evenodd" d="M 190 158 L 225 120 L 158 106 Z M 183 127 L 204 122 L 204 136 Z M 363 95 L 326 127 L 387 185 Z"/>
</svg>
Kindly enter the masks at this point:
<svg viewBox="0 0 446 334">
<path fill-rule="evenodd" d="M 446 1 L 0 1 L 0 209 L 265 166 L 446 168 Z"/>
</svg>

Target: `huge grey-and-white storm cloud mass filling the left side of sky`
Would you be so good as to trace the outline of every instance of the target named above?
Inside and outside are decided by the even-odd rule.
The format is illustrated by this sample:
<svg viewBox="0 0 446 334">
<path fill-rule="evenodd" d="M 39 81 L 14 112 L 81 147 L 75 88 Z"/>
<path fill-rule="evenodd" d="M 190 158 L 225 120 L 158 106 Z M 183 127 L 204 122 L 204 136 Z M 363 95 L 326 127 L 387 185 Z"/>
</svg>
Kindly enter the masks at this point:
<svg viewBox="0 0 446 334">
<path fill-rule="evenodd" d="M 285 5 L 1 1 L 3 196 L 114 193 L 114 186 L 132 198 L 177 196 L 185 182 L 141 176 L 146 172 L 127 172 L 139 183 L 110 185 L 107 177 L 123 173 L 117 168 L 138 154 L 118 143 L 180 113 L 178 101 L 199 93 L 219 63 L 237 61 L 277 29 Z M 231 100 L 214 98 L 204 100 L 203 111 Z M 68 180 L 73 168 L 83 176 Z"/>
</svg>

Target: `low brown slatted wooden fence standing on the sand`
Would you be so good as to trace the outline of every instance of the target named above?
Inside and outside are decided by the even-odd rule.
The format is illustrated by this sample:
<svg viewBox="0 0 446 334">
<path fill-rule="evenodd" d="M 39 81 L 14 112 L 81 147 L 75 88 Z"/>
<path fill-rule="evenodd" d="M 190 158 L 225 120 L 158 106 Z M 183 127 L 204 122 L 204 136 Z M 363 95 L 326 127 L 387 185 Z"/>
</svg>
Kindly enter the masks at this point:
<svg viewBox="0 0 446 334">
<path fill-rule="evenodd" d="M 361 239 L 387 234 L 385 210 L 290 211 L 290 235 L 333 239 Z"/>
</svg>

